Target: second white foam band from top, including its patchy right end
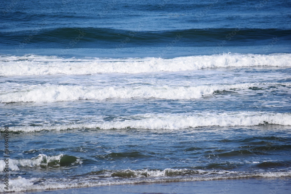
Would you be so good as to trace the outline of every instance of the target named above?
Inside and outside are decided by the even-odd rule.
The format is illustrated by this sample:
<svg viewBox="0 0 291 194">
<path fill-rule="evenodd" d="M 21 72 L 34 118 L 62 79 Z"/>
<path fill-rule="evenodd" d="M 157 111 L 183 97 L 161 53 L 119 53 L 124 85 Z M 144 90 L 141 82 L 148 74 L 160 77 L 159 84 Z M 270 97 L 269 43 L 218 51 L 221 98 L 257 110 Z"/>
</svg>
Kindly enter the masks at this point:
<svg viewBox="0 0 291 194">
<path fill-rule="evenodd" d="M 286 87 L 287 86 L 287 87 Z M 252 89 L 255 88 L 254 90 Z M 290 83 L 237 83 L 209 84 L 198 86 L 70 86 L 52 84 L 3 84 L 0 90 L 0 103 L 11 102 L 58 102 L 80 99 L 109 98 L 159 98 L 159 99 L 198 99 L 217 91 L 234 91 L 242 95 L 255 93 L 268 94 L 274 90 L 291 94 Z"/>
</svg>

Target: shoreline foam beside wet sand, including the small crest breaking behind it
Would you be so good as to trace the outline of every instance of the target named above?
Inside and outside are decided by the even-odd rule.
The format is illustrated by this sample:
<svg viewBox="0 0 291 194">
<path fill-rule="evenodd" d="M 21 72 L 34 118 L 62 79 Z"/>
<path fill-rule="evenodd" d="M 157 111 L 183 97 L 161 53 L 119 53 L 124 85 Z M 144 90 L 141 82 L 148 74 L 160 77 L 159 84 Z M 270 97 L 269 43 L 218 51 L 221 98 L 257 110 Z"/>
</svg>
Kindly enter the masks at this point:
<svg viewBox="0 0 291 194">
<path fill-rule="evenodd" d="M 104 171 L 105 172 L 105 171 Z M 183 176 L 186 174 L 196 174 L 192 176 Z M 111 176 L 118 175 L 136 175 L 137 177 L 125 177 L 123 179 L 112 179 Z M 179 175 L 180 174 L 180 175 Z M 145 177 L 148 175 L 148 177 Z M 176 175 L 176 176 L 173 176 Z M 221 179 L 239 179 L 239 178 L 254 178 L 254 177 L 290 177 L 291 172 L 235 172 L 226 170 L 188 170 L 188 169 L 171 169 L 164 170 L 120 170 L 107 172 L 104 178 L 99 178 L 98 175 L 87 175 L 76 178 L 31 178 L 26 179 L 17 177 L 9 179 L 10 192 L 22 192 L 31 190 L 50 190 L 64 188 L 82 188 L 105 185 L 121 185 L 121 184 L 137 184 L 137 183 L 159 183 L 159 182 L 180 182 L 180 181 L 209 181 Z M 109 178 L 109 179 L 107 179 Z M 0 188 L 0 193 L 3 193 L 4 187 Z"/>
</svg>

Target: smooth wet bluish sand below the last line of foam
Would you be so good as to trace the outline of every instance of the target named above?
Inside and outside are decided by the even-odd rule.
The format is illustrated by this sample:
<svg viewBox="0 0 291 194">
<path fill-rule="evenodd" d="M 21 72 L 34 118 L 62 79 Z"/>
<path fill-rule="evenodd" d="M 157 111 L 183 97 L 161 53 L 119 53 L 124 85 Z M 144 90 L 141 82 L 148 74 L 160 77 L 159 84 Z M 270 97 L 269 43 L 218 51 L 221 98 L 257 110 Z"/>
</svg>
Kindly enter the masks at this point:
<svg viewBox="0 0 291 194">
<path fill-rule="evenodd" d="M 26 192 L 27 193 L 27 192 Z M 215 181 L 168 182 L 159 184 L 128 184 L 99 186 L 90 188 L 74 188 L 64 190 L 34 191 L 28 193 L 73 194 L 73 193 L 130 193 L 130 194 L 166 194 L 166 193 L 291 193 L 291 179 L 285 178 L 248 178 Z"/>
</svg>

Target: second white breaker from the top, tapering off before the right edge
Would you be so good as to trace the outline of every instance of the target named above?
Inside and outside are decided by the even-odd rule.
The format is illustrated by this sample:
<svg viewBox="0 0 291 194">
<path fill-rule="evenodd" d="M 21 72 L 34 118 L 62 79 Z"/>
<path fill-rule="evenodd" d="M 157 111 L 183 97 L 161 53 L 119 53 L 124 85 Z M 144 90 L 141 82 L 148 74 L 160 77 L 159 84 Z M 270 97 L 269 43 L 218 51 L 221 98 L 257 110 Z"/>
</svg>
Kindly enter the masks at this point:
<svg viewBox="0 0 291 194">
<path fill-rule="evenodd" d="M 139 86 L 94 88 L 84 86 L 33 85 L 18 92 L 0 95 L 1 103 L 11 102 L 57 102 L 79 99 L 108 98 L 160 98 L 160 99 L 197 99 L 215 91 L 250 87 L 251 83 L 206 85 L 206 86 Z"/>
</svg>

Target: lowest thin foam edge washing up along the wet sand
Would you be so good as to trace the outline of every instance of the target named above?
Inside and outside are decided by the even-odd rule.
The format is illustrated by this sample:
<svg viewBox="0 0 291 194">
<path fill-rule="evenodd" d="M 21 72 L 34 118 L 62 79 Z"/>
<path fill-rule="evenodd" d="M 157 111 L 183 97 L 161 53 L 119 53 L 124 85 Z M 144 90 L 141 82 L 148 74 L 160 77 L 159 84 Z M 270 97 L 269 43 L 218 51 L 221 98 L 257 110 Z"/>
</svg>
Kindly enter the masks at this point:
<svg viewBox="0 0 291 194">
<path fill-rule="evenodd" d="M 166 169 L 175 171 L 175 169 Z M 164 170 L 164 171 L 166 171 Z M 211 172 L 210 172 L 211 173 Z M 231 172 L 230 172 L 231 173 Z M 103 180 L 100 179 L 40 179 L 32 178 L 26 179 L 18 177 L 9 180 L 9 192 L 21 192 L 21 191 L 32 191 L 32 190 L 49 190 L 49 189 L 65 189 L 65 188 L 83 188 L 83 187 L 93 187 L 93 186 L 106 186 L 106 185 L 121 185 L 121 184 L 137 184 L 137 183 L 159 183 L 159 182 L 180 182 L 180 181 L 208 181 L 208 180 L 220 180 L 220 179 L 238 179 L 238 178 L 269 178 L 269 177 L 290 177 L 291 171 L 287 172 L 260 172 L 260 173 L 243 173 L 235 172 L 237 175 L 229 175 L 230 173 L 221 172 L 215 173 L 216 176 L 188 176 L 188 177 L 153 177 L 153 178 L 125 178 L 122 180 Z M 223 175 L 224 174 L 224 175 Z M 225 175 L 227 174 L 227 175 Z M 41 181 L 41 182 L 40 182 Z M 40 182 L 38 184 L 34 184 Z M 0 193 L 3 193 L 4 188 L 0 188 Z"/>
</svg>

